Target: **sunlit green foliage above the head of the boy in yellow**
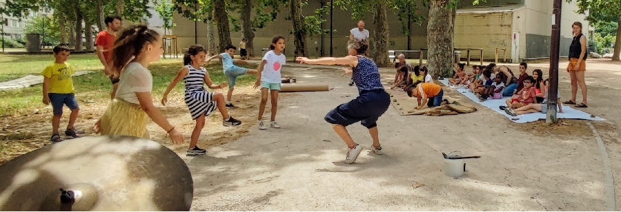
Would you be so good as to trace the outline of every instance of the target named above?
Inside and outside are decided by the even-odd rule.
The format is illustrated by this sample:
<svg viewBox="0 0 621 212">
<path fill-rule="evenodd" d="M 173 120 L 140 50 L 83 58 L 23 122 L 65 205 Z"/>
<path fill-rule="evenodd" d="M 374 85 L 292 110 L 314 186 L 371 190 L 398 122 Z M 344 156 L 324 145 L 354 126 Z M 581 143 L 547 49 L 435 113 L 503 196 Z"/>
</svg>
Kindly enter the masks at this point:
<svg viewBox="0 0 621 212">
<path fill-rule="evenodd" d="M 43 43 L 60 43 L 60 27 L 58 21 L 54 21 L 49 17 L 37 16 L 30 18 L 30 20 L 26 21 L 23 32 L 41 34 L 41 41 Z"/>
</svg>

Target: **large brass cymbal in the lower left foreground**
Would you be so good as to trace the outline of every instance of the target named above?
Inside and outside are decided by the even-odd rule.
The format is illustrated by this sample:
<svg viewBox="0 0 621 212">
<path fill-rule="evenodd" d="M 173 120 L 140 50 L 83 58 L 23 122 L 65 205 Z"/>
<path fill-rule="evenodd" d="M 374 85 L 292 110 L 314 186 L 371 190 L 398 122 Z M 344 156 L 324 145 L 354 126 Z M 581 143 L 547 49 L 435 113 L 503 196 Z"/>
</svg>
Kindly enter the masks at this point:
<svg viewBox="0 0 621 212">
<path fill-rule="evenodd" d="M 189 211 L 190 169 L 158 142 L 88 136 L 0 166 L 0 211 Z"/>
</svg>

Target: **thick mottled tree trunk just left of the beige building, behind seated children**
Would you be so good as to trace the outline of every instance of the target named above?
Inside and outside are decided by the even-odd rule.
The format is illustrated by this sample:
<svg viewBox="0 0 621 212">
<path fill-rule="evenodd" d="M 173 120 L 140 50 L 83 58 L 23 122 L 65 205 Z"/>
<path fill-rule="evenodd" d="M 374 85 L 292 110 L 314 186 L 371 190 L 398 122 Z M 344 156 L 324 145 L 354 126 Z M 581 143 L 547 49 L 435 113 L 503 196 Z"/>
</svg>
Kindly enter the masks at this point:
<svg viewBox="0 0 621 212">
<path fill-rule="evenodd" d="M 427 23 L 427 70 L 433 78 L 453 70 L 455 8 L 450 0 L 432 0 Z"/>
</svg>

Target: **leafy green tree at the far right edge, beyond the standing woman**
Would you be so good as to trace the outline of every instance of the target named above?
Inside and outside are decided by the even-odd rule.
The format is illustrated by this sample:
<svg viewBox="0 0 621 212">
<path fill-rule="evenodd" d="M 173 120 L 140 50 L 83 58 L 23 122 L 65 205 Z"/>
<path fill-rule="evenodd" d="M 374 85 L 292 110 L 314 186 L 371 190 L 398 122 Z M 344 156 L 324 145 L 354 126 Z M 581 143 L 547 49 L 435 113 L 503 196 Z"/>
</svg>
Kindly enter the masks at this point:
<svg viewBox="0 0 621 212">
<path fill-rule="evenodd" d="M 572 0 L 567 0 L 571 2 Z M 609 1 L 609 0 L 573 0 L 578 2 L 578 12 L 585 14 L 589 11 L 589 15 L 586 16 L 586 20 L 591 23 L 606 23 L 610 21 L 617 22 L 617 32 L 615 47 L 613 52 L 613 61 L 620 61 L 621 53 L 621 1 Z"/>
</svg>

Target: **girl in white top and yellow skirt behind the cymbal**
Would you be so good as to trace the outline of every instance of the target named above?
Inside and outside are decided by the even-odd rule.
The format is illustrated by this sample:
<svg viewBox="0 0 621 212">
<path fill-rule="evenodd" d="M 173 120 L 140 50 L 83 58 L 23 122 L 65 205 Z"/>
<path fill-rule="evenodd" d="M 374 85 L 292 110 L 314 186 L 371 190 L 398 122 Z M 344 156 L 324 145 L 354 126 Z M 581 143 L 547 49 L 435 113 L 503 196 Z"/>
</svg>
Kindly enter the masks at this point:
<svg viewBox="0 0 621 212">
<path fill-rule="evenodd" d="M 112 74 L 119 76 L 115 99 L 95 124 L 101 135 L 120 135 L 149 138 L 146 129 L 149 118 L 170 134 L 175 144 L 184 142 L 179 129 L 170 125 L 153 105 L 151 91 L 153 76 L 149 63 L 159 61 L 163 53 L 161 38 L 146 25 L 137 25 L 121 32 L 112 50 Z"/>
</svg>

